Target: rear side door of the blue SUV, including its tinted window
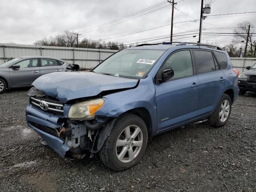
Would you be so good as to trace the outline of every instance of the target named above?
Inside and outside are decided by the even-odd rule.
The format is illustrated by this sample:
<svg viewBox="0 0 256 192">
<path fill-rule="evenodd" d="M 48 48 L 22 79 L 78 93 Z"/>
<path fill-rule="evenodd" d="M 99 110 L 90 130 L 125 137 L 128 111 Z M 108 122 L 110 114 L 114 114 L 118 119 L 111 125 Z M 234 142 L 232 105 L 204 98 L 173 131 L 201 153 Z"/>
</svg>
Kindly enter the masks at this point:
<svg viewBox="0 0 256 192">
<path fill-rule="evenodd" d="M 212 51 L 193 50 L 199 80 L 198 116 L 211 113 L 226 89 L 226 76 L 220 70 Z"/>
</svg>

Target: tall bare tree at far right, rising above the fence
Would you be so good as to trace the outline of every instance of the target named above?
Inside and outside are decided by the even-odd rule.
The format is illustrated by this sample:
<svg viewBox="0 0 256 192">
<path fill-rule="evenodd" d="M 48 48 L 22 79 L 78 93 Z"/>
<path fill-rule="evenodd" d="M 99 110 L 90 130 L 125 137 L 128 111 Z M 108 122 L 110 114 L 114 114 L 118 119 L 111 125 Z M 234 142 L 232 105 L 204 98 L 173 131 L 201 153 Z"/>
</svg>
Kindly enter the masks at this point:
<svg viewBox="0 0 256 192">
<path fill-rule="evenodd" d="M 250 56 L 253 56 L 254 55 L 254 50 L 255 50 L 255 43 L 254 43 L 254 40 L 253 40 L 253 32 L 254 32 L 254 28 L 252 26 L 252 24 L 250 24 L 250 22 L 248 21 L 244 21 L 242 23 L 238 23 L 237 24 L 237 27 L 235 28 L 234 30 L 234 33 L 235 33 L 235 37 L 237 39 L 238 42 L 242 42 L 244 41 L 243 43 L 246 44 L 246 40 L 247 40 L 247 34 L 248 34 L 248 26 L 250 26 L 250 32 L 249 32 L 249 38 L 248 38 L 248 54 Z"/>
</svg>

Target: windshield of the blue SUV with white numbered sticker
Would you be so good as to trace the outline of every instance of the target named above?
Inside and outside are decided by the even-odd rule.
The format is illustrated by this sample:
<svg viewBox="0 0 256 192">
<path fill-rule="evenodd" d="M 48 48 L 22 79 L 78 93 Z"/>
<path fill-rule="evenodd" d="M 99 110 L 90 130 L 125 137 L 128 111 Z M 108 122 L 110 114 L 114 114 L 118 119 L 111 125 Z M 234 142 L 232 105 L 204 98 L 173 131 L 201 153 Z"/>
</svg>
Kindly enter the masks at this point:
<svg viewBox="0 0 256 192">
<path fill-rule="evenodd" d="M 104 60 L 93 72 L 124 78 L 143 78 L 165 50 L 122 50 Z"/>
</svg>

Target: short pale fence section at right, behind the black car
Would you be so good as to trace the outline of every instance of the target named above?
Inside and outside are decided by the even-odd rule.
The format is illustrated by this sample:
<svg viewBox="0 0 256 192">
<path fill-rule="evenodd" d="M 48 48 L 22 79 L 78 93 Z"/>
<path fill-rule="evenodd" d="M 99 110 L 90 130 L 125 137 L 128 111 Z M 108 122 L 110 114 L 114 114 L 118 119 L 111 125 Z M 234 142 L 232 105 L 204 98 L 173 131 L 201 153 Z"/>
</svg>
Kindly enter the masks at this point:
<svg viewBox="0 0 256 192">
<path fill-rule="evenodd" d="M 256 58 L 232 57 L 230 60 L 233 67 L 240 72 L 246 71 L 246 66 L 253 66 L 256 63 Z"/>
</svg>

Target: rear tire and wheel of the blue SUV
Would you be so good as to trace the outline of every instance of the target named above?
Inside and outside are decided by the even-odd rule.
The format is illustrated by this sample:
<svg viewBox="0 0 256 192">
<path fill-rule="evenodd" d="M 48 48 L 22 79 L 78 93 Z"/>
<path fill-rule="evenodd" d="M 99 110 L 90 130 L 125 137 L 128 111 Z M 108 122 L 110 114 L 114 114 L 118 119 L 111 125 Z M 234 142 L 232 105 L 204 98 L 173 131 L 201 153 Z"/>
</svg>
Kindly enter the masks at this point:
<svg viewBox="0 0 256 192">
<path fill-rule="evenodd" d="M 214 112 L 209 116 L 209 123 L 214 127 L 224 126 L 231 113 L 231 98 L 228 94 L 223 94 Z"/>
</svg>

